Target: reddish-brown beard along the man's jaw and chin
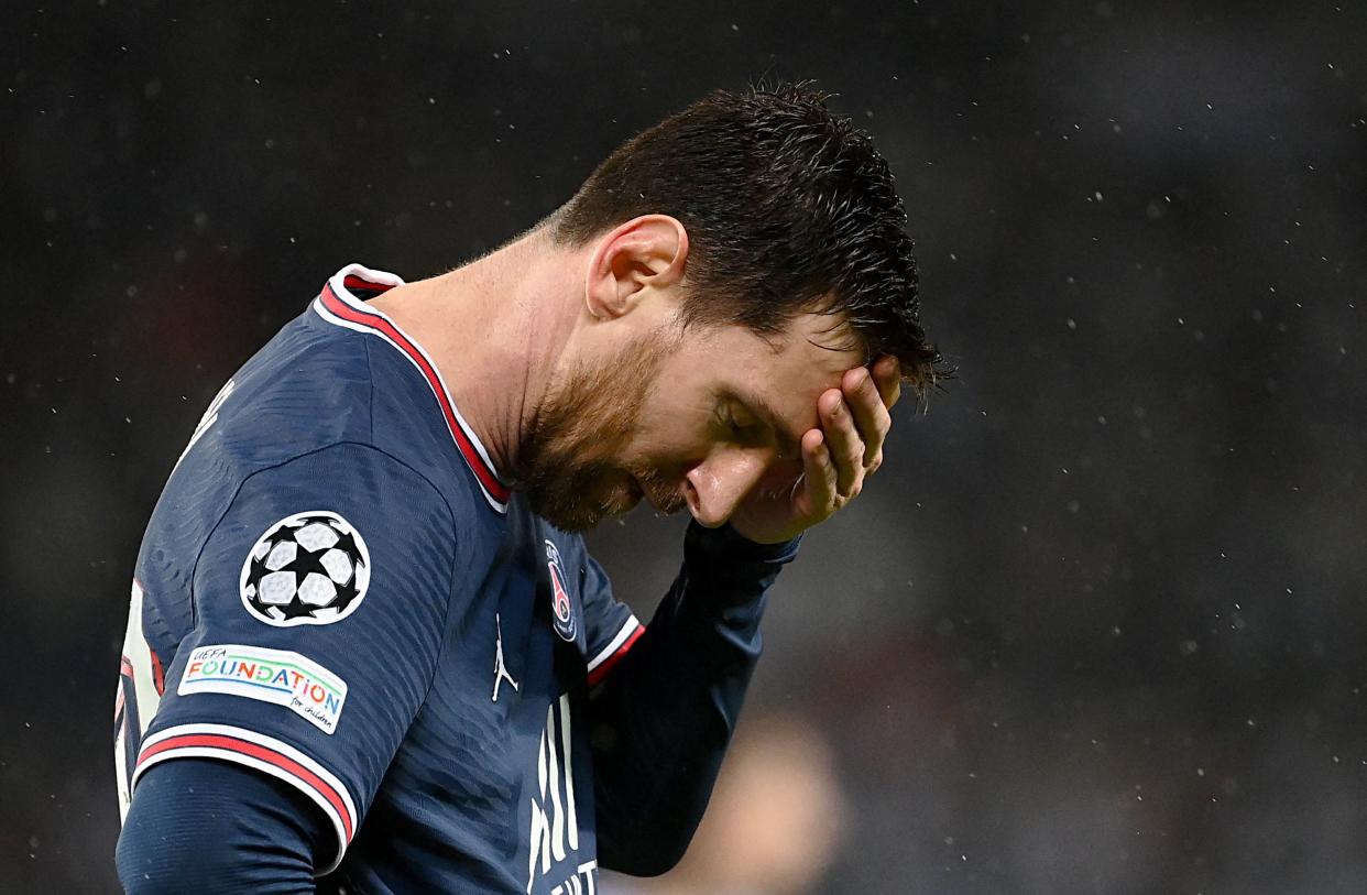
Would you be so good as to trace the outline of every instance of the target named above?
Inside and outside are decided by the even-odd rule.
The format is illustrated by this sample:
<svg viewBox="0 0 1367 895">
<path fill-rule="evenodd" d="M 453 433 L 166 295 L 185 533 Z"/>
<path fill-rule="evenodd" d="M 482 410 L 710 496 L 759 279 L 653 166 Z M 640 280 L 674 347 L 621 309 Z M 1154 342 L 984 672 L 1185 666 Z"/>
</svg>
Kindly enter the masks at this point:
<svg viewBox="0 0 1367 895">
<path fill-rule="evenodd" d="M 663 333 L 645 335 L 607 365 L 578 366 L 551 383 L 518 445 L 518 489 L 533 512 L 565 532 L 584 532 L 642 496 L 662 512 L 684 508 L 677 482 L 615 456 L 632 441 L 675 347 Z"/>
</svg>

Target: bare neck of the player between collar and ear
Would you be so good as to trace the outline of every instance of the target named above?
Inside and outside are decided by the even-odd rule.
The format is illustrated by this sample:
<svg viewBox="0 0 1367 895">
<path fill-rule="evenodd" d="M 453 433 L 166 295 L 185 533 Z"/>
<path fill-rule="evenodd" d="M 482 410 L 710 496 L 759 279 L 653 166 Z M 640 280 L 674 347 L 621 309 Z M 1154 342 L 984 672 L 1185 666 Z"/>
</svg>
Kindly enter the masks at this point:
<svg viewBox="0 0 1367 895">
<path fill-rule="evenodd" d="M 427 350 L 504 478 L 580 312 L 569 254 L 533 231 L 369 302 Z"/>
</svg>

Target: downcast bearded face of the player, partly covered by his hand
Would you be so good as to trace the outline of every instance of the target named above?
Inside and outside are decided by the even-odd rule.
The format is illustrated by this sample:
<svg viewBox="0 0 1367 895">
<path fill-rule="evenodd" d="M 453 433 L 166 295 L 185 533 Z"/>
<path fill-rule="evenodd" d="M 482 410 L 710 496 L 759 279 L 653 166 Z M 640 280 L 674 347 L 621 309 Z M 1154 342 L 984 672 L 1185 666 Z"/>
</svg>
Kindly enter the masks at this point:
<svg viewBox="0 0 1367 895">
<path fill-rule="evenodd" d="M 533 511 L 580 532 L 647 497 L 719 526 L 753 489 L 791 488 L 817 396 L 864 362 L 834 322 L 802 314 L 775 340 L 662 328 L 560 377 L 518 452 Z"/>
</svg>

